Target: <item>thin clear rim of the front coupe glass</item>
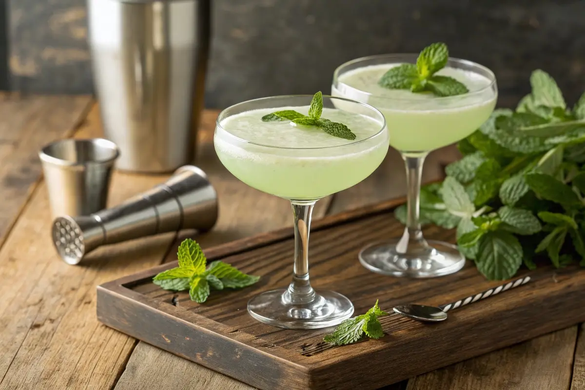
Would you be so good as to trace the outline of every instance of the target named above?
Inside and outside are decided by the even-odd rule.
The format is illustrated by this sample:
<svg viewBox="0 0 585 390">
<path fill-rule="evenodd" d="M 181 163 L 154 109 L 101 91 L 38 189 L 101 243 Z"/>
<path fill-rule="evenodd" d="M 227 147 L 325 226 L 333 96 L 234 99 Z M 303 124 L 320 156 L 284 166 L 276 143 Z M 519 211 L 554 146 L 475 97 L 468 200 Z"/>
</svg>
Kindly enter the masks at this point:
<svg viewBox="0 0 585 390">
<path fill-rule="evenodd" d="M 369 139 L 372 139 L 374 137 L 377 137 L 378 135 L 380 135 L 384 129 L 386 129 L 386 117 L 384 116 L 383 113 L 381 113 L 380 110 L 378 110 L 376 107 L 368 104 L 368 103 L 362 103 L 356 100 L 352 100 L 352 99 L 347 99 L 347 98 L 341 98 L 338 96 L 331 96 L 331 95 L 322 95 L 323 98 L 330 98 L 330 99 L 338 99 L 340 101 L 346 101 L 346 102 L 350 102 L 350 103 L 355 103 L 357 105 L 361 105 L 361 106 L 365 106 L 366 108 L 371 109 L 372 111 L 376 112 L 378 115 L 380 115 L 380 118 L 382 119 L 381 123 L 382 126 L 380 127 L 380 130 L 378 130 L 376 133 L 372 134 L 371 136 L 364 138 L 363 140 L 353 140 L 350 141 L 349 143 L 345 143 L 342 145 L 332 145 L 332 146 L 318 146 L 318 147 L 290 147 L 290 146 L 273 146 L 273 145 L 267 145 L 267 144 L 262 144 L 262 143 L 257 143 L 257 142 L 253 142 L 253 141 L 249 141 L 249 140 L 245 140 L 241 137 L 238 137 L 232 133 L 230 133 L 228 130 L 224 129 L 223 126 L 221 125 L 221 120 L 220 119 L 224 119 L 222 118 L 223 113 L 225 113 L 226 111 L 228 111 L 229 109 L 235 108 L 239 105 L 243 105 L 246 103 L 253 103 L 253 102 L 260 102 L 260 101 L 269 101 L 270 99 L 276 99 L 276 98 L 281 98 L 281 99 L 286 99 L 286 98 L 309 98 L 312 99 L 314 95 L 308 95 L 308 94 L 301 94 L 301 95 L 274 95 L 274 96 L 266 96 L 264 98 L 257 98 L 257 99 L 250 99 L 247 101 L 243 101 L 240 103 L 236 103 L 234 105 L 229 106 L 228 108 L 223 109 L 221 112 L 219 112 L 218 118 L 215 120 L 215 127 L 216 129 L 222 129 L 224 132 L 226 132 L 227 134 L 229 134 L 230 137 L 232 137 L 233 139 L 236 139 L 238 141 L 242 141 L 243 143 L 247 143 L 247 144 L 251 144 L 251 145 L 256 145 L 256 146 L 261 146 L 261 147 L 267 147 L 267 148 L 271 148 L 271 149 L 287 149 L 287 150 L 319 150 L 319 149 L 333 149 L 336 147 L 343 147 L 343 146 L 350 146 L 350 145 L 356 145 L 362 142 L 365 142 Z M 310 103 L 310 100 L 309 100 Z M 247 110 L 250 111 L 250 110 Z M 342 110 L 343 111 L 343 110 Z M 243 111 L 245 112 L 245 111 Z M 237 115 L 237 114 L 236 114 Z M 226 117 L 228 118 L 228 117 Z M 374 119 L 375 120 L 375 119 Z M 347 140 L 349 141 L 349 140 Z"/>
</svg>

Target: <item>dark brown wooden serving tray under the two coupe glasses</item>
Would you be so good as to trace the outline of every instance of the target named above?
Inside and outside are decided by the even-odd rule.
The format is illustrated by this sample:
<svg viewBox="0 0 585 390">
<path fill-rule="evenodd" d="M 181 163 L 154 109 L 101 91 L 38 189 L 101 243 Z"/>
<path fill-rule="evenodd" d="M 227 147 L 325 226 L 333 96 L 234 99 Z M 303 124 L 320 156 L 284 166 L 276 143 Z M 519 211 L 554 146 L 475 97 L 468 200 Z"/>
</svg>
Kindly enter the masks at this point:
<svg viewBox="0 0 585 390">
<path fill-rule="evenodd" d="M 402 234 L 392 210 L 403 199 L 331 216 L 314 223 L 310 243 L 313 287 L 346 295 L 356 315 L 376 299 L 391 311 L 397 303 L 441 305 L 495 287 L 472 261 L 440 278 L 407 279 L 374 274 L 357 260 L 366 244 Z M 453 240 L 453 232 L 430 226 L 427 238 Z M 187 292 L 151 282 L 167 263 L 98 287 L 98 319 L 105 325 L 266 390 L 376 389 L 414 375 L 510 346 L 585 321 L 585 270 L 541 267 L 528 284 L 449 312 L 428 325 L 392 314 L 383 317 L 385 337 L 343 347 L 322 342 L 329 329 L 285 330 L 246 312 L 260 292 L 288 285 L 292 229 L 278 230 L 205 250 L 240 270 L 261 275 L 240 291 L 215 291 L 202 305 Z"/>
</svg>

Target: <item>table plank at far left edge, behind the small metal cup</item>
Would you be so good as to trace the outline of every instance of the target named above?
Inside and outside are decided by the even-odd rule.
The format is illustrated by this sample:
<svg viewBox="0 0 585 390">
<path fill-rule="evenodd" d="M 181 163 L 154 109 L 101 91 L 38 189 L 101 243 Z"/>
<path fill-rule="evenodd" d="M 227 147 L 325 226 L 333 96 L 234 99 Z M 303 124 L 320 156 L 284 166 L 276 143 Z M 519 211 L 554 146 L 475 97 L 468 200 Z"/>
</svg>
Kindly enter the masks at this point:
<svg viewBox="0 0 585 390">
<path fill-rule="evenodd" d="M 0 246 L 40 178 L 37 153 L 45 144 L 70 136 L 90 102 L 90 96 L 0 92 Z"/>
</svg>

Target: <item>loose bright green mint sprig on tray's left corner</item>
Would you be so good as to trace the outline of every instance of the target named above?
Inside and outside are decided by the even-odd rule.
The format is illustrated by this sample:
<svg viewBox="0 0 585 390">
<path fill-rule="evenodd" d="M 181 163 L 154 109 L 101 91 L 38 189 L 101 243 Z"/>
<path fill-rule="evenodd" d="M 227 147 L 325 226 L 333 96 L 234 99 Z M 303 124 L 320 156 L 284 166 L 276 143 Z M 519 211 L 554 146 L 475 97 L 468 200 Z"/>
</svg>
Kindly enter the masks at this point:
<svg viewBox="0 0 585 390">
<path fill-rule="evenodd" d="M 211 289 L 242 288 L 256 283 L 260 277 L 244 274 L 238 268 L 212 261 L 206 267 L 207 258 L 197 242 L 184 240 L 178 249 L 179 266 L 160 272 L 153 278 L 153 283 L 161 288 L 173 291 L 189 290 L 191 301 L 203 303 Z"/>
</svg>

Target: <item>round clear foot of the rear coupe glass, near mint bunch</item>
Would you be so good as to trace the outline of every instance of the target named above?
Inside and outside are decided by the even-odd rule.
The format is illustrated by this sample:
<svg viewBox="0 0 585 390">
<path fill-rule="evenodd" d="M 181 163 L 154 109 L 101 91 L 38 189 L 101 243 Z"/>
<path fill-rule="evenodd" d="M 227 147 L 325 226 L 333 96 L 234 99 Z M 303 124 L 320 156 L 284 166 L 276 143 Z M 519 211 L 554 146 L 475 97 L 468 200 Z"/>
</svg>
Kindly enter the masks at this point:
<svg viewBox="0 0 585 390">
<path fill-rule="evenodd" d="M 400 239 L 371 244 L 360 251 L 360 263 L 383 275 L 409 278 L 434 278 L 452 274 L 465 265 L 465 256 L 455 245 L 428 240 L 424 245 L 397 250 Z"/>
</svg>

